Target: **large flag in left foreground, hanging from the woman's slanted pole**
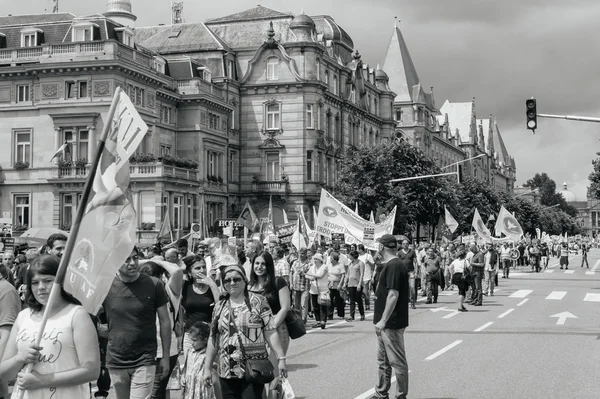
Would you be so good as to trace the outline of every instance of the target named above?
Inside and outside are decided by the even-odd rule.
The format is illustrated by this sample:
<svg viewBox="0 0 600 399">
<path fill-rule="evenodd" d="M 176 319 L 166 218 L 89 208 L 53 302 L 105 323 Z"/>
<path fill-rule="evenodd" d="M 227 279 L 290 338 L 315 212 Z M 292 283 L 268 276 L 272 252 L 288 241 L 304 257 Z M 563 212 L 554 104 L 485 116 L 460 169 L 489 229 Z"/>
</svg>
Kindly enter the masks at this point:
<svg viewBox="0 0 600 399">
<path fill-rule="evenodd" d="M 97 168 L 89 200 L 78 233 L 69 238 L 75 244 L 64 280 L 64 289 L 91 314 L 98 312 L 115 274 L 135 246 L 136 212 L 129 189 L 129 157 L 148 131 L 120 88 L 105 124 L 93 164 Z"/>
</svg>

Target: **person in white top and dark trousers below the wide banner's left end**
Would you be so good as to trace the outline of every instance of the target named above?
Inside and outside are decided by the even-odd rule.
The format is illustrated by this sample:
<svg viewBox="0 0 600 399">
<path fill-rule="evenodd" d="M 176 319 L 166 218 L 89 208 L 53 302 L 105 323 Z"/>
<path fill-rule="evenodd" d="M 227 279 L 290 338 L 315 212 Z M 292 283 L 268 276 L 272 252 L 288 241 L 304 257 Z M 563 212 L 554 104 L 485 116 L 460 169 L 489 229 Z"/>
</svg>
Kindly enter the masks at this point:
<svg viewBox="0 0 600 399">
<path fill-rule="evenodd" d="M 308 269 L 306 277 L 310 280 L 310 299 L 316 321 L 313 328 L 325 329 L 331 299 L 329 298 L 328 267 L 323 264 L 323 255 L 320 253 L 313 255 L 312 265 Z"/>
</svg>

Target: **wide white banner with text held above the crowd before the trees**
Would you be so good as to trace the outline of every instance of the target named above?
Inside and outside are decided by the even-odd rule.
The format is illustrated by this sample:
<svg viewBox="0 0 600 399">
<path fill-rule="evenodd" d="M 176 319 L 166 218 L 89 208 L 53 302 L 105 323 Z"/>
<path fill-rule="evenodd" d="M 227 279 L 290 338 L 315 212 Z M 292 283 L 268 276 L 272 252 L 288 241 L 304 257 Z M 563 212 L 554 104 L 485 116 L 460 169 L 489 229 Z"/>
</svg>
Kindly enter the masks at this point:
<svg viewBox="0 0 600 399">
<path fill-rule="evenodd" d="M 364 243 L 365 227 L 374 228 L 374 239 L 377 240 L 384 234 L 392 234 L 396 220 L 396 207 L 389 216 L 379 224 L 374 224 L 358 216 L 356 212 L 338 201 L 325 189 L 321 189 L 321 201 L 315 230 L 327 238 L 333 233 L 343 233 L 346 244 L 364 244 L 365 248 L 377 250 L 375 242 Z"/>
</svg>

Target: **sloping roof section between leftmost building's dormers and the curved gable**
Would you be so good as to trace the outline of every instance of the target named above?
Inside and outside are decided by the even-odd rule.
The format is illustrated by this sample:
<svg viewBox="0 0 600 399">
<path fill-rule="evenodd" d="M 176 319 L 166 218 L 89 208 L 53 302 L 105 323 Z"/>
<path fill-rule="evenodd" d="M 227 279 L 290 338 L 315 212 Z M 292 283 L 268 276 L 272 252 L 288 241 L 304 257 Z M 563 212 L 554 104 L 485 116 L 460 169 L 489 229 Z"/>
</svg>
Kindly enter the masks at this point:
<svg viewBox="0 0 600 399">
<path fill-rule="evenodd" d="M 135 34 L 137 43 L 160 54 L 230 50 L 202 22 L 141 27 Z"/>
</svg>

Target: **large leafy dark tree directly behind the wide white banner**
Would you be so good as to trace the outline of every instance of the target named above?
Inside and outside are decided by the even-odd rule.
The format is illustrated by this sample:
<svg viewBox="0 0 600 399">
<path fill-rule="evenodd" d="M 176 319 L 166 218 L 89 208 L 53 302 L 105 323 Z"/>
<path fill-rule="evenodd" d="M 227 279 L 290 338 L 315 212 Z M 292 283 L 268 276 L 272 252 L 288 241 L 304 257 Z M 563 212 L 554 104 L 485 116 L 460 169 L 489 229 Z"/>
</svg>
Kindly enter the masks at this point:
<svg viewBox="0 0 600 399">
<path fill-rule="evenodd" d="M 444 205 L 453 204 L 456 197 L 443 177 L 389 181 L 436 173 L 440 170 L 433 161 L 403 140 L 351 148 L 339 171 L 334 195 L 348 205 L 358 202 L 359 213 L 364 216 L 397 205 L 395 229 L 407 233 L 415 223 L 435 224 Z"/>
</svg>

